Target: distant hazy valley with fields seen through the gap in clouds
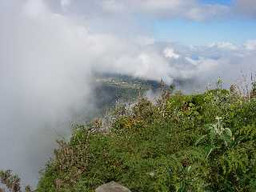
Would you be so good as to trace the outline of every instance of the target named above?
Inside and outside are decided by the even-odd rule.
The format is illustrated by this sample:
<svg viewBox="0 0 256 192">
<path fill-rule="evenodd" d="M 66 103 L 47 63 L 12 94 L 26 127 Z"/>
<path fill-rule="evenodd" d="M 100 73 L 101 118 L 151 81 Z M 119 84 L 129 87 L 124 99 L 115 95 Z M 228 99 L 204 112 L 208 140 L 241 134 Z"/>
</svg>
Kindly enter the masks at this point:
<svg viewBox="0 0 256 192">
<path fill-rule="evenodd" d="M 118 74 L 102 74 L 94 80 L 94 102 L 96 110 L 91 113 L 89 119 L 106 114 L 116 102 L 135 102 L 139 95 L 147 90 L 158 90 L 161 86 L 158 82 L 132 78 Z"/>
</svg>

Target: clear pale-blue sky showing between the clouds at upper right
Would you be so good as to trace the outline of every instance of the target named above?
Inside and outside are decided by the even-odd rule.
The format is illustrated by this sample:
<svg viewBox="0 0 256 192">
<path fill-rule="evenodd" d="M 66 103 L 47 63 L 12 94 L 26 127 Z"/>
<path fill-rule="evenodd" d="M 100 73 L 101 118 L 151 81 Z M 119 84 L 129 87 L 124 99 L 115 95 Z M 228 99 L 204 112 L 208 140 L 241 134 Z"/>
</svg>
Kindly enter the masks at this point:
<svg viewBox="0 0 256 192">
<path fill-rule="evenodd" d="M 202 4 L 222 4 L 234 7 L 231 0 L 201 0 Z M 156 19 L 151 22 L 153 36 L 158 41 L 180 42 L 185 45 L 206 45 L 211 42 L 242 44 L 256 39 L 256 19 L 232 15 L 211 18 L 203 22 L 186 18 Z"/>
</svg>

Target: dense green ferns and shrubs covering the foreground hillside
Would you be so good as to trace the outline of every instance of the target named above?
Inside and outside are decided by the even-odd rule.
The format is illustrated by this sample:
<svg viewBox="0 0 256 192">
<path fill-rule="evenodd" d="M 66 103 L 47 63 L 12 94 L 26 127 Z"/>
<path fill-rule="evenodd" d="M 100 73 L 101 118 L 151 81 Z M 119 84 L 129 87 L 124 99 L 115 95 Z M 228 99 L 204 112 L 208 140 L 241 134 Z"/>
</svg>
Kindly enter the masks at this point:
<svg viewBox="0 0 256 192">
<path fill-rule="evenodd" d="M 132 191 L 256 191 L 256 99 L 233 89 L 140 98 L 58 144 L 38 192 L 110 181 Z"/>
</svg>

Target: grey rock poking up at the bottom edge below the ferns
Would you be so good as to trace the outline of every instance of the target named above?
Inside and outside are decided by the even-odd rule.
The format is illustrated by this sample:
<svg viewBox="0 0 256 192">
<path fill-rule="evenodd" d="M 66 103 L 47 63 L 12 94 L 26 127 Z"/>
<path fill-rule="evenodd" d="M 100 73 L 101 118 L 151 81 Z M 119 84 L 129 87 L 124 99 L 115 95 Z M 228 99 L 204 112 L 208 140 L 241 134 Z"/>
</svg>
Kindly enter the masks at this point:
<svg viewBox="0 0 256 192">
<path fill-rule="evenodd" d="M 95 192 L 131 192 L 125 186 L 121 186 L 117 182 L 109 182 L 102 186 L 98 186 Z"/>
</svg>

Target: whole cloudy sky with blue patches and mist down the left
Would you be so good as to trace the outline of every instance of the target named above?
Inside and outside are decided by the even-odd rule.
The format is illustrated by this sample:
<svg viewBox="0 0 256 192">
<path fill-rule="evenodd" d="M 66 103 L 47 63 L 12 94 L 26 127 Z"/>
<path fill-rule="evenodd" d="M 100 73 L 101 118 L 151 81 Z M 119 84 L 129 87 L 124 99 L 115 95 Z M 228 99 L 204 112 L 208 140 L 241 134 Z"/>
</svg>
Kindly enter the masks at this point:
<svg viewBox="0 0 256 192">
<path fill-rule="evenodd" d="M 0 170 L 32 186 L 94 110 L 95 72 L 190 92 L 256 73 L 255 0 L 1 0 L 0 29 Z"/>
</svg>

